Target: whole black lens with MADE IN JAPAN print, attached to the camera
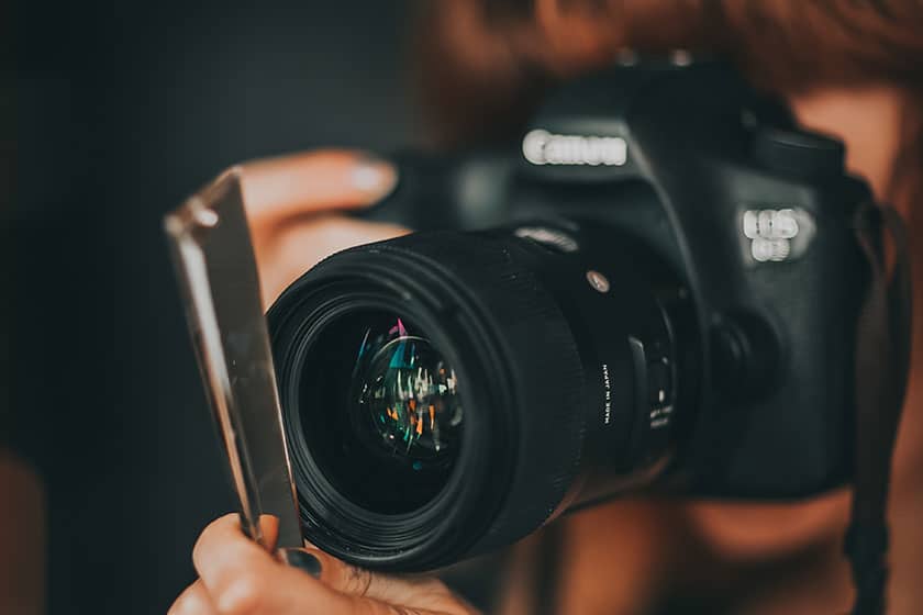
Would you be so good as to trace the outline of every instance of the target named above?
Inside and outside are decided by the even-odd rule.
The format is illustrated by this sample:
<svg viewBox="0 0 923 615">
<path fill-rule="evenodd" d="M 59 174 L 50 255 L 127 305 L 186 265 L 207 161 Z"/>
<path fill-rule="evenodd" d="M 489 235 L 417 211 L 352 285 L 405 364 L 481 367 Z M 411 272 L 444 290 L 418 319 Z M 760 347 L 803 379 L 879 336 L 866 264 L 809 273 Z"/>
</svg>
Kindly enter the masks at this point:
<svg viewBox="0 0 923 615">
<path fill-rule="evenodd" d="M 587 248 L 420 233 L 286 290 L 268 318 L 309 541 L 429 570 L 667 457 L 669 316 L 631 254 L 607 265 Z"/>
</svg>

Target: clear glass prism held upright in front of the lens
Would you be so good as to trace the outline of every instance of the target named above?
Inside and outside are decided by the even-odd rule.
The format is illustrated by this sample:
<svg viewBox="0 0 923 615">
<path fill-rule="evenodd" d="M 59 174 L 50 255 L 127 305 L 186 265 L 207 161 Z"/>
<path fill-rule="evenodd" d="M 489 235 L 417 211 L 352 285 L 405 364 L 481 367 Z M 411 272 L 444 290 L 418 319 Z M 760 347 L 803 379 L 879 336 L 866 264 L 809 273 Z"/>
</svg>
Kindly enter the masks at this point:
<svg viewBox="0 0 923 615">
<path fill-rule="evenodd" d="M 186 316 L 240 499 L 241 523 L 269 547 L 260 514 L 279 518 L 279 547 L 302 546 L 294 485 L 238 169 L 165 219 Z"/>
</svg>

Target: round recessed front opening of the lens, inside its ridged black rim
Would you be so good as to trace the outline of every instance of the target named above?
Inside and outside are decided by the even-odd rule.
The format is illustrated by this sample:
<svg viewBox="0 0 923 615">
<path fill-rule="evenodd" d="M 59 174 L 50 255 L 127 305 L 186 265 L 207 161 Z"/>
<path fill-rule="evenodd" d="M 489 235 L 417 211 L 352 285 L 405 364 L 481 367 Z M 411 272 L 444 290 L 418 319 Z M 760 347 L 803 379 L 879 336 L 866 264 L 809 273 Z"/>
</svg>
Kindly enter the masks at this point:
<svg viewBox="0 0 923 615">
<path fill-rule="evenodd" d="M 357 309 L 319 325 L 300 373 L 300 438 L 356 506 L 409 513 L 445 485 L 462 441 L 457 374 L 415 324 Z"/>
</svg>

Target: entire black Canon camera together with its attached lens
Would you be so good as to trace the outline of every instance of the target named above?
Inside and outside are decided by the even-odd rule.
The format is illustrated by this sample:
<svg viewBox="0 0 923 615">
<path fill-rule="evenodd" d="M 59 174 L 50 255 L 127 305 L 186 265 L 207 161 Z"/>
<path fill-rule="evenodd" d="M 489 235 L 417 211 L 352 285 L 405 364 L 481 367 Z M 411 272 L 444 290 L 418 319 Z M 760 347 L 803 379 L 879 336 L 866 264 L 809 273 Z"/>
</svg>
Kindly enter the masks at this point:
<svg viewBox="0 0 923 615">
<path fill-rule="evenodd" d="M 427 569 L 626 490 L 789 500 L 850 480 L 870 280 L 856 221 L 871 197 L 838 142 L 725 65 L 642 63 L 566 85 L 510 149 L 398 159 L 398 188 L 363 215 L 421 233 L 331 257 L 269 313 L 310 540 L 364 566 Z M 444 349 L 433 365 L 479 383 L 463 391 L 464 433 L 445 440 L 477 450 L 470 461 L 437 459 L 434 405 L 429 421 L 409 415 L 394 472 L 432 484 L 404 507 L 404 487 L 379 492 L 391 461 L 348 436 L 364 420 L 305 409 L 321 382 L 352 391 L 327 410 L 377 403 L 355 388 L 358 364 L 331 371 L 351 355 L 321 338 L 341 323 L 331 335 L 348 346 L 378 306 L 408 314 L 382 347 L 425 337 Z M 426 335 L 404 335 L 405 322 Z M 413 457 L 424 426 L 435 448 Z M 379 491 L 351 495 L 363 481 Z"/>
</svg>

